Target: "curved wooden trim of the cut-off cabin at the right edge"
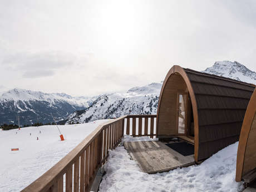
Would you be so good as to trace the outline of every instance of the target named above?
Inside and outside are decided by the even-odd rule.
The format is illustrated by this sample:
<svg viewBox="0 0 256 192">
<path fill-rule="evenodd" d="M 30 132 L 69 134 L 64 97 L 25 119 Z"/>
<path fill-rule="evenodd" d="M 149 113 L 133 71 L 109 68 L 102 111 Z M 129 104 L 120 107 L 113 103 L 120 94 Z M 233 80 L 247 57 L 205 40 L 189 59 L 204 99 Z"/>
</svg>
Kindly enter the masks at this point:
<svg viewBox="0 0 256 192">
<path fill-rule="evenodd" d="M 249 138 L 250 128 L 256 112 L 256 90 L 249 101 L 247 110 L 245 112 L 244 121 L 239 137 L 238 151 L 237 151 L 237 170 L 235 174 L 235 181 L 239 182 L 242 180 L 243 168 L 244 168 L 244 156 Z"/>
</svg>

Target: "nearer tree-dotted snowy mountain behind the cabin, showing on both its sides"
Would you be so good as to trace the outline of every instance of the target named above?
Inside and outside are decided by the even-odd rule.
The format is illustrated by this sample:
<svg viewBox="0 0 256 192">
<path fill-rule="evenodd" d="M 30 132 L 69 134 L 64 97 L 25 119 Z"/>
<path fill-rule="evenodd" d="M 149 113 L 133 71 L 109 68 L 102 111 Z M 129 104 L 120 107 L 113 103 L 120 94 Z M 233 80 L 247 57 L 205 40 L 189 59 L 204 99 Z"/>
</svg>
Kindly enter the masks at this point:
<svg viewBox="0 0 256 192">
<path fill-rule="evenodd" d="M 256 84 L 256 73 L 236 61 L 218 61 L 202 72 Z M 162 83 L 133 87 L 126 93 L 100 95 L 87 109 L 73 112 L 68 116 L 66 124 L 115 118 L 128 114 L 156 114 Z"/>
</svg>

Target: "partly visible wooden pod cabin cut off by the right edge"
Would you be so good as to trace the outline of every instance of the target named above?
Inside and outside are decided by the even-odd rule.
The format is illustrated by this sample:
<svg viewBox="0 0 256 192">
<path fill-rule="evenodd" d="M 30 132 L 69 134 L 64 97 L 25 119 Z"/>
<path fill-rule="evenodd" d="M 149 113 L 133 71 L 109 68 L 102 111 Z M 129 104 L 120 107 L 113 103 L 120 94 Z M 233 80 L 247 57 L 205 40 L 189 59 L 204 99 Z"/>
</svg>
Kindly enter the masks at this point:
<svg viewBox="0 0 256 192">
<path fill-rule="evenodd" d="M 237 173 L 236 181 L 242 179 L 250 183 L 256 178 L 256 91 L 254 91 L 247 111 L 239 138 L 237 152 Z"/>
</svg>

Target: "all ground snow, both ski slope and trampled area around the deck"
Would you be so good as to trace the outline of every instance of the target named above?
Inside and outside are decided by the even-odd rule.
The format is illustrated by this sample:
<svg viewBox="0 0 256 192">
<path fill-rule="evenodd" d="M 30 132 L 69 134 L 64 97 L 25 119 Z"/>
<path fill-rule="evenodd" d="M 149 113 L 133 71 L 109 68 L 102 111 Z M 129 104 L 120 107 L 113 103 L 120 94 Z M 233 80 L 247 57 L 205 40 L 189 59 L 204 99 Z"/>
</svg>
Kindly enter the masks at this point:
<svg viewBox="0 0 256 192">
<path fill-rule="evenodd" d="M 59 126 L 65 141 L 60 141 L 60 134 L 53 125 L 0 131 L 0 191 L 22 190 L 105 121 L 107 120 Z M 36 140 L 36 137 L 39 137 L 39 140 Z M 150 140 L 157 139 L 125 135 L 122 142 Z M 19 151 L 11 151 L 11 148 L 17 147 Z M 243 183 L 235 182 L 237 147 L 238 142 L 229 145 L 200 165 L 175 169 L 167 173 L 146 174 L 140 170 L 136 161 L 130 159 L 121 144 L 115 150 L 109 151 L 109 158 L 104 165 L 106 174 L 100 184 L 100 192 L 240 191 Z"/>
</svg>

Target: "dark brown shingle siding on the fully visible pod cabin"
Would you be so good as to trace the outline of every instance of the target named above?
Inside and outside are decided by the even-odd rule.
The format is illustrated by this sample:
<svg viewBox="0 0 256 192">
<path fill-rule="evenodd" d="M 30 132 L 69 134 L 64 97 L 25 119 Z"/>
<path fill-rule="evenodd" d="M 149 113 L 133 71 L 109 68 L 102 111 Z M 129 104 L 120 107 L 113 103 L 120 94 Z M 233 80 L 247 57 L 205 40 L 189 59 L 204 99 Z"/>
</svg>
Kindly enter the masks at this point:
<svg viewBox="0 0 256 192">
<path fill-rule="evenodd" d="M 199 154 L 206 159 L 238 141 L 254 86 L 229 78 L 184 69 L 198 104 Z"/>
</svg>

